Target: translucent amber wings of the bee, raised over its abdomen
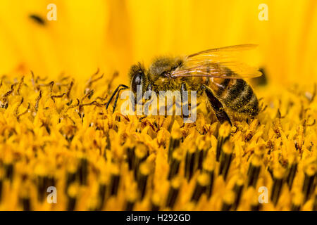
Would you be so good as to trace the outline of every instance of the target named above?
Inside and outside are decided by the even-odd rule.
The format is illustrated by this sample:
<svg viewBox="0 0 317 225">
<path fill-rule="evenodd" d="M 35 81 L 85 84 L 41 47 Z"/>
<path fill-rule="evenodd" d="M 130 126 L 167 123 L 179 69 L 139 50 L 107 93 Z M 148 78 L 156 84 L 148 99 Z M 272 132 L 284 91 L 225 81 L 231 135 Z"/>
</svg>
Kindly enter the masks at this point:
<svg viewBox="0 0 317 225">
<path fill-rule="evenodd" d="M 185 66 L 171 72 L 170 77 L 218 77 L 226 79 L 259 77 L 262 75 L 259 70 L 237 60 L 238 53 L 255 47 L 254 44 L 243 44 L 194 53 L 185 57 Z"/>
</svg>

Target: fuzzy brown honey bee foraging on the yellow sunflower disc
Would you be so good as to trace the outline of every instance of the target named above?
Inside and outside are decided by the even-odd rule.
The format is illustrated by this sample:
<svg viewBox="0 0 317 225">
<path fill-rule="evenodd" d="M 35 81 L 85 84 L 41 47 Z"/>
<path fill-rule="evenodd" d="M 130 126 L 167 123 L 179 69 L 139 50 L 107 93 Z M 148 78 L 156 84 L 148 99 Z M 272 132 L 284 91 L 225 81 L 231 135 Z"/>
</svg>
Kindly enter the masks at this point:
<svg viewBox="0 0 317 225">
<path fill-rule="evenodd" d="M 197 98 L 206 101 L 218 121 L 223 123 L 234 115 L 255 117 L 259 101 L 245 78 L 259 77 L 261 72 L 237 60 L 236 53 L 253 49 L 253 44 L 208 49 L 185 57 L 160 57 L 149 69 L 137 63 L 130 68 L 130 89 L 136 94 L 137 86 L 145 91 L 197 91 Z M 128 86 L 120 84 L 115 94 Z M 116 96 L 115 105 L 118 100 Z M 230 116 L 229 116 L 230 115 Z"/>
</svg>

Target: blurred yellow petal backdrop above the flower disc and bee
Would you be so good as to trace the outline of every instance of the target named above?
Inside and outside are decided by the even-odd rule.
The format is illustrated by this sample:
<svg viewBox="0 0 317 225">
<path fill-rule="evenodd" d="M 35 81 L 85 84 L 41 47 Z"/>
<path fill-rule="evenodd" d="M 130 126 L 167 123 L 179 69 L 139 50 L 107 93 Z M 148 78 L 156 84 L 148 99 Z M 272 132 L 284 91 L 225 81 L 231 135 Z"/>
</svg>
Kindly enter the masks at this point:
<svg viewBox="0 0 317 225">
<path fill-rule="evenodd" d="M 49 21 L 48 4 L 57 20 Z M 260 4 L 268 21 L 260 21 Z M 161 54 L 185 55 L 235 44 L 259 44 L 248 63 L 270 82 L 317 81 L 316 0 L 2 0 L 0 75 L 54 79 L 61 72 L 85 81 L 97 68 L 120 72 Z M 30 15 L 38 15 L 45 25 Z M 126 80 L 125 80 L 126 79 Z"/>
</svg>

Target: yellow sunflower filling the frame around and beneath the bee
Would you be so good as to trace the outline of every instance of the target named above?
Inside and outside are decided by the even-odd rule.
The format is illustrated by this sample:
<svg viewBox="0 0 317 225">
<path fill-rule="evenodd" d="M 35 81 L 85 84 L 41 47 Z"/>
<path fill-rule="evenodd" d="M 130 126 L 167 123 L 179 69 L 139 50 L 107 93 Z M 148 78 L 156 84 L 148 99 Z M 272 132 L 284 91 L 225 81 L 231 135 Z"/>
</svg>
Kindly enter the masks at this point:
<svg viewBox="0 0 317 225">
<path fill-rule="evenodd" d="M 316 210 L 316 1 L 261 4 L 1 1 L 0 210 Z M 132 63 L 236 44 L 254 120 L 107 107 Z"/>
</svg>

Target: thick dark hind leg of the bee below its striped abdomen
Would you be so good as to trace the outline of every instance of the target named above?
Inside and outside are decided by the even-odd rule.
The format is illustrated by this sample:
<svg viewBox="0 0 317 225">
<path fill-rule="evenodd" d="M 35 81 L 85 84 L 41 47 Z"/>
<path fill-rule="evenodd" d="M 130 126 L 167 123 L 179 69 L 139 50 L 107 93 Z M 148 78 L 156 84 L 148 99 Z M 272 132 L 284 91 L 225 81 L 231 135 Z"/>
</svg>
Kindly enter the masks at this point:
<svg viewBox="0 0 317 225">
<path fill-rule="evenodd" d="M 221 124 L 225 121 L 228 121 L 231 125 L 230 118 L 228 117 L 228 114 L 225 113 L 225 110 L 223 109 L 223 104 L 220 103 L 218 98 L 213 96 L 212 91 L 208 87 L 203 85 L 202 88 L 204 89 L 206 96 L 208 97 L 209 103 L 211 104 L 211 108 L 213 108 L 213 110 L 215 111 L 218 121 Z"/>
</svg>

